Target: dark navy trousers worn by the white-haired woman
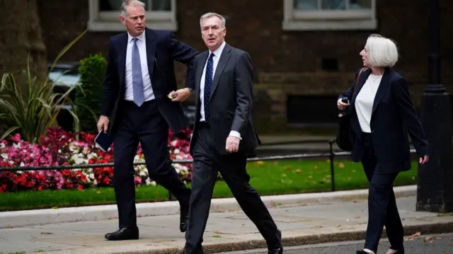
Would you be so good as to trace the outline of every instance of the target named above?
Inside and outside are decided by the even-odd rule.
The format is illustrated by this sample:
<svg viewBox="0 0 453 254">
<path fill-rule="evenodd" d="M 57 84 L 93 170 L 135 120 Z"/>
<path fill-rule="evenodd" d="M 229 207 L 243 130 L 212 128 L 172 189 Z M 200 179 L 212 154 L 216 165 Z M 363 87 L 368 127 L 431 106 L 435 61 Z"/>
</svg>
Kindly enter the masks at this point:
<svg viewBox="0 0 453 254">
<path fill-rule="evenodd" d="M 368 225 L 365 248 L 377 253 L 377 246 L 384 226 L 392 249 L 403 249 L 403 224 L 396 207 L 393 183 L 398 173 L 384 173 L 374 154 L 372 136 L 362 134 L 365 154 L 363 169 L 369 181 Z"/>
</svg>

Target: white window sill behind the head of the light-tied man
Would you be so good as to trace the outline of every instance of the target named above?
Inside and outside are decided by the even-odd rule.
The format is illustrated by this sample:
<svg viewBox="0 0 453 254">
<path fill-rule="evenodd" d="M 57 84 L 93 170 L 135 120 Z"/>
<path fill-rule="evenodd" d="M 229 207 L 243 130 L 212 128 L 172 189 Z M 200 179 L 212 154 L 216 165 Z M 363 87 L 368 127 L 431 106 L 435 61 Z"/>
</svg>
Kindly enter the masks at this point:
<svg viewBox="0 0 453 254">
<path fill-rule="evenodd" d="M 171 30 L 175 32 L 178 30 L 178 23 L 176 21 L 147 21 L 147 26 L 157 30 Z M 125 26 L 120 21 L 88 21 L 88 31 L 91 32 L 123 32 L 126 30 Z"/>
</svg>

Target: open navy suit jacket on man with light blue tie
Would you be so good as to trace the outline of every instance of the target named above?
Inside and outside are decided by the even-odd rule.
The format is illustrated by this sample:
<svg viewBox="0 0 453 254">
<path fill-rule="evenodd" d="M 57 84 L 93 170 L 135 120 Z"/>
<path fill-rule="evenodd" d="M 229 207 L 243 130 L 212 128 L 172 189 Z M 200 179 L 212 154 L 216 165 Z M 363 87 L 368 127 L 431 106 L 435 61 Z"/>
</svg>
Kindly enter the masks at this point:
<svg viewBox="0 0 453 254">
<path fill-rule="evenodd" d="M 176 39 L 170 31 L 146 28 L 147 62 L 151 86 L 159 111 L 174 133 L 187 127 L 180 103 L 172 102 L 168 93 L 178 89 L 174 71 L 176 60 L 187 66 L 185 87 L 195 88 L 193 60 L 198 54 L 193 47 Z M 110 117 L 108 133 L 115 132 L 115 117 L 125 97 L 127 32 L 110 38 L 108 66 L 105 74 L 101 115 Z"/>
</svg>

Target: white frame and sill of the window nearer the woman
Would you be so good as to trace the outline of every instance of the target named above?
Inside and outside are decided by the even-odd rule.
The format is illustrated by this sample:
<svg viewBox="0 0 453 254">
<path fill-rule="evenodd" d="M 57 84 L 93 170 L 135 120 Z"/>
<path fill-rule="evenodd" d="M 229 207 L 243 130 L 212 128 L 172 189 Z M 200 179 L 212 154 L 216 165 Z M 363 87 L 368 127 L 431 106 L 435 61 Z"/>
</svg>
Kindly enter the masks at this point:
<svg viewBox="0 0 453 254">
<path fill-rule="evenodd" d="M 349 4 L 349 2 L 347 2 Z M 375 30 L 376 0 L 370 10 L 297 10 L 294 0 L 283 0 L 283 30 Z"/>
</svg>

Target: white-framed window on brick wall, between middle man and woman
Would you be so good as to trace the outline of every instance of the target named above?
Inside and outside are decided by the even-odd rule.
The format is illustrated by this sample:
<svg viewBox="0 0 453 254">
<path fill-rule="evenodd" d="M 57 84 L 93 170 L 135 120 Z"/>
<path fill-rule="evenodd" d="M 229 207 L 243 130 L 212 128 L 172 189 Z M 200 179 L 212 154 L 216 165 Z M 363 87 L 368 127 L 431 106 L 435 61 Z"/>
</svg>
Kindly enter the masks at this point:
<svg viewBox="0 0 453 254">
<path fill-rule="evenodd" d="M 284 30 L 374 30 L 376 0 L 283 0 Z"/>
</svg>

